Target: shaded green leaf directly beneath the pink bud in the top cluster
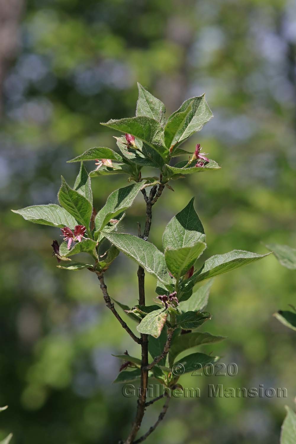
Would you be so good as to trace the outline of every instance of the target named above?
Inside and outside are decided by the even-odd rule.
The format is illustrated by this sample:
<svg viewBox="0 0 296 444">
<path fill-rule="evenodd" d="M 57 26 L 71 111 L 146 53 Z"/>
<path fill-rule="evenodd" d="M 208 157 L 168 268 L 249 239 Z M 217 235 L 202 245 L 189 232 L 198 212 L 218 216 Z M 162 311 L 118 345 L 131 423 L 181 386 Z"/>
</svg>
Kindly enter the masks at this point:
<svg viewBox="0 0 296 444">
<path fill-rule="evenodd" d="M 158 154 L 153 148 L 149 147 L 146 143 L 143 143 L 140 139 L 136 139 L 137 146 L 141 151 L 127 149 L 126 138 L 115 137 L 116 143 L 122 155 L 126 157 L 129 162 L 135 163 L 141 166 L 152 166 L 154 168 L 162 168 L 164 161 L 162 156 Z"/>
</svg>

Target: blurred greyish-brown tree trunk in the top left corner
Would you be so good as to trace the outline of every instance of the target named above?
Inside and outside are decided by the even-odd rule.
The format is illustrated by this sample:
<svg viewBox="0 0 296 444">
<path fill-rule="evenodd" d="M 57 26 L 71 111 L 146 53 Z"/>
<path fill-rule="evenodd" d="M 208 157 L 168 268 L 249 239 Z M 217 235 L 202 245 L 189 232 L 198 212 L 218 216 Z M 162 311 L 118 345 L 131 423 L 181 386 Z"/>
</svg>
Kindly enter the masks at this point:
<svg viewBox="0 0 296 444">
<path fill-rule="evenodd" d="M 5 73 L 19 46 L 19 26 L 23 6 L 24 0 L 0 0 L 0 115 L 3 110 Z"/>
</svg>

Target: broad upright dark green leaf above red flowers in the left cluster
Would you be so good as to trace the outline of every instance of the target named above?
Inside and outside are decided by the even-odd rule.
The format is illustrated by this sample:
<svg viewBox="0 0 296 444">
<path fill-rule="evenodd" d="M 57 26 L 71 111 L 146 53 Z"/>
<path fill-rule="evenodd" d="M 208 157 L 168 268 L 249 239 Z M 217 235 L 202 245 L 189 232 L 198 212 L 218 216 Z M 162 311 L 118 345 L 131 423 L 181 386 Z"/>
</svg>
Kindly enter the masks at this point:
<svg viewBox="0 0 296 444">
<path fill-rule="evenodd" d="M 62 185 L 58 193 L 59 203 L 89 231 L 92 205 L 87 198 L 78 191 L 72 190 L 62 176 Z"/>
</svg>

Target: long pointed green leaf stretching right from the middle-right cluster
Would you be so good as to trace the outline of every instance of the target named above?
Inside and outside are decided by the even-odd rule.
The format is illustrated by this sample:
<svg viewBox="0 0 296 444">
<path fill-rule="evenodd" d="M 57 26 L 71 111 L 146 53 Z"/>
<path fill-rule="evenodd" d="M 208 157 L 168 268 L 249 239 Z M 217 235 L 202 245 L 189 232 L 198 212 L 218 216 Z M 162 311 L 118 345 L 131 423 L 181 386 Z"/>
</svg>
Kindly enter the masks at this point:
<svg viewBox="0 0 296 444">
<path fill-rule="evenodd" d="M 207 259 L 201 269 L 190 277 L 189 281 L 192 280 L 194 282 L 200 282 L 204 279 L 209 279 L 209 277 L 214 277 L 218 274 L 235 270 L 236 268 L 247 265 L 251 262 L 258 261 L 259 259 L 265 258 L 269 254 L 270 253 L 257 254 L 244 250 L 233 250 L 225 254 L 216 254 L 215 256 Z"/>
</svg>

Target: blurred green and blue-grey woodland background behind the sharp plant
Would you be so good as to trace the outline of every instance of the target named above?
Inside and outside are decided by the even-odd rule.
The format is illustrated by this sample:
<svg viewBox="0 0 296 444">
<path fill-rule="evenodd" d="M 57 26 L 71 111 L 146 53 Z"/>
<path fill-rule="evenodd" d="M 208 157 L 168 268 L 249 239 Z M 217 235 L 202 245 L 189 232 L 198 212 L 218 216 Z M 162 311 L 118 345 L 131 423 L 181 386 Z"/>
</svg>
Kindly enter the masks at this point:
<svg viewBox="0 0 296 444">
<path fill-rule="evenodd" d="M 66 160 L 94 146 L 115 148 L 114 133 L 99 123 L 134 115 L 138 80 L 168 112 L 206 92 L 214 119 L 184 147 L 199 142 L 222 166 L 164 191 L 150 240 L 161 248 L 166 223 L 194 195 L 207 256 L 264 253 L 268 242 L 295 247 L 295 59 L 292 0 L 0 0 L 0 404 L 9 404 L 0 438 L 116 443 L 129 430 L 135 399 L 112 385 L 120 364 L 111 353 L 139 353 L 95 276 L 55 267 L 59 230 L 10 209 L 57 202 L 60 174 L 71 184 L 79 168 Z M 92 182 L 100 208 L 126 178 Z M 141 197 L 122 230 L 136 234 L 143 222 Z M 106 274 L 111 297 L 136 303 L 136 269 L 120 254 Z M 152 302 L 155 281 L 146 282 Z M 147 444 L 279 442 L 284 404 L 292 407 L 296 395 L 296 340 L 272 313 L 295 304 L 295 291 L 295 272 L 272 255 L 216 278 L 213 319 L 201 330 L 228 339 L 202 351 L 236 362 L 238 375 L 183 377 L 201 398 L 173 399 Z M 208 398 L 207 385 L 218 383 L 286 387 L 288 399 Z"/>
</svg>

